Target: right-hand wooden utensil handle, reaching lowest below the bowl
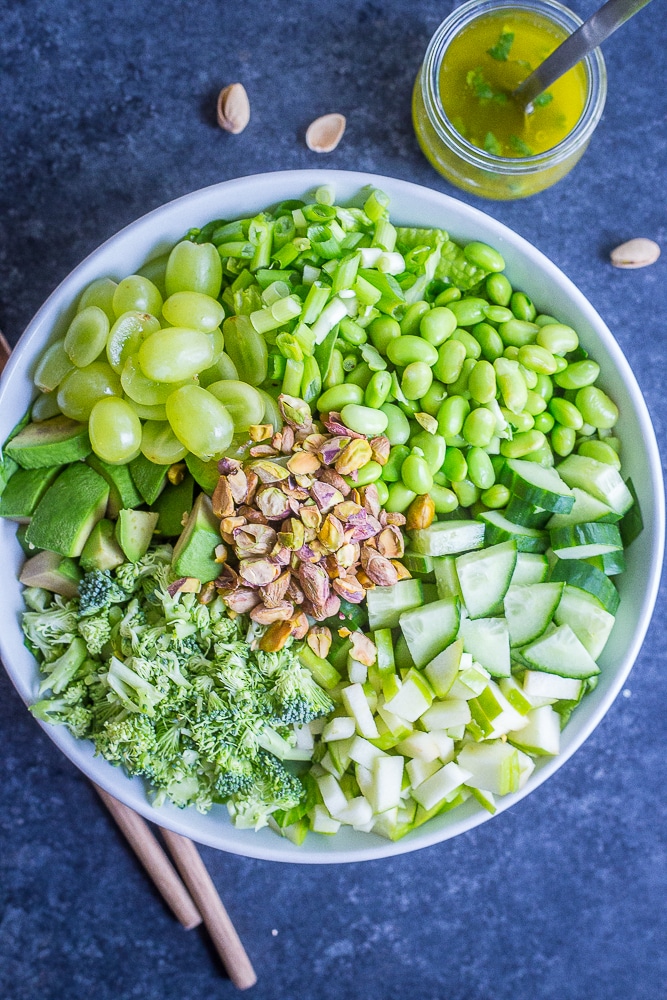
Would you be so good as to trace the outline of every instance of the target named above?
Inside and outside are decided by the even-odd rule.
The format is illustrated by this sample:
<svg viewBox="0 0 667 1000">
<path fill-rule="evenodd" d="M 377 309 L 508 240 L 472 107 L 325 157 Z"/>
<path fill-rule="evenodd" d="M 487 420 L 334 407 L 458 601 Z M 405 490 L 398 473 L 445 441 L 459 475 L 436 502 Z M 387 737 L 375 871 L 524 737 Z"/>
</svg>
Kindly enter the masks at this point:
<svg viewBox="0 0 667 1000">
<path fill-rule="evenodd" d="M 199 851 L 187 837 L 162 827 L 160 831 L 183 881 L 199 908 L 216 951 L 229 973 L 229 978 L 240 990 L 254 986 L 257 982 L 255 970 L 218 896 Z"/>
</svg>

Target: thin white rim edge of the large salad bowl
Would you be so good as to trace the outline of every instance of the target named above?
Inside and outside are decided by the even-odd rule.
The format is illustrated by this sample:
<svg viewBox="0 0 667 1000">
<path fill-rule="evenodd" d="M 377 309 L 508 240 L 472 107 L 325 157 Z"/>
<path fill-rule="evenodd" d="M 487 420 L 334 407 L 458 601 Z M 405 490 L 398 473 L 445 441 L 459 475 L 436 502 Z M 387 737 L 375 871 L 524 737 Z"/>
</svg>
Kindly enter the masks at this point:
<svg viewBox="0 0 667 1000">
<path fill-rule="evenodd" d="M 595 336 L 601 339 L 604 348 L 613 359 L 613 363 L 623 380 L 624 386 L 632 397 L 634 414 L 640 424 L 648 465 L 651 472 L 650 486 L 654 501 L 654 517 L 651 525 L 653 529 L 653 547 L 650 564 L 647 568 L 648 584 L 646 595 L 642 605 L 641 614 L 632 632 L 632 640 L 629 643 L 628 650 L 621 667 L 615 673 L 613 683 L 610 685 L 595 710 L 591 711 L 590 717 L 586 720 L 586 722 L 580 724 L 575 738 L 562 749 L 561 753 L 557 757 L 551 758 L 549 761 L 542 764 L 542 766 L 535 772 L 533 772 L 531 778 L 521 791 L 512 795 L 504 796 L 498 800 L 497 809 L 494 814 L 498 816 L 538 788 L 556 770 L 562 767 L 575 753 L 575 751 L 578 750 L 579 747 L 585 742 L 588 736 L 590 736 L 617 697 L 639 654 L 639 650 L 644 641 L 644 637 L 650 623 L 658 595 L 665 540 L 665 501 L 660 455 L 648 408 L 634 373 L 632 372 L 625 355 L 622 353 L 621 348 L 614 339 L 611 331 L 589 300 L 583 295 L 571 279 L 568 278 L 560 270 L 560 268 L 550 261 L 549 258 L 547 258 L 533 244 L 529 243 L 526 239 L 524 239 L 524 237 L 511 230 L 508 226 L 495 220 L 486 212 L 483 212 L 474 206 L 468 205 L 460 199 L 451 197 L 450 195 L 426 187 L 425 185 L 415 184 L 411 181 L 391 178 L 377 173 L 327 170 L 322 168 L 276 170 L 260 174 L 249 174 L 243 177 L 221 181 L 217 184 L 209 185 L 204 188 L 199 188 L 152 209 L 150 212 L 123 227 L 117 233 L 105 240 L 90 254 L 88 254 L 58 284 L 58 286 L 51 292 L 44 304 L 37 311 L 33 319 L 28 323 L 15 348 L 15 351 L 9 360 L 9 363 L 5 368 L 0 381 L 0 414 L 2 413 L 2 403 L 7 395 L 8 387 L 11 385 L 14 372 L 19 369 L 21 360 L 25 357 L 25 352 L 28 352 L 30 348 L 36 346 L 37 343 L 43 343 L 46 341 L 47 337 L 44 336 L 44 327 L 47 321 L 47 336 L 51 335 L 53 327 L 59 320 L 62 320 L 62 315 L 66 307 L 68 305 L 71 307 L 75 289 L 78 287 L 80 291 L 86 283 L 93 280 L 93 277 L 101 276 L 100 274 L 91 276 L 91 272 L 95 270 L 97 261 L 102 258 L 109 248 L 115 243 L 122 240 L 128 240 L 134 235 L 139 235 L 145 230 L 150 230 L 157 220 L 162 217 L 168 219 L 170 214 L 176 215 L 180 208 L 187 205 L 194 205 L 196 207 L 200 203 L 203 205 L 209 201 L 215 202 L 218 197 L 228 197 L 231 203 L 238 204 L 239 209 L 236 212 L 238 215 L 244 210 L 242 197 L 244 195 L 248 197 L 250 190 L 254 192 L 253 200 L 257 200 L 256 192 L 258 190 L 265 190 L 266 200 L 264 205 L 266 205 L 273 193 L 276 193 L 277 195 L 280 193 L 281 186 L 283 188 L 289 187 L 290 189 L 293 189 L 296 186 L 302 191 L 303 194 L 305 194 L 323 184 L 331 184 L 334 188 L 344 186 L 354 190 L 355 192 L 361 192 L 362 189 L 367 188 L 370 185 L 386 190 L 390 195 L 390 199 L 394 196 L 392 195 L 392 192 L 395 193 L 396 197 L 405 197 L 408 199 L 410 195 L 412 195 L 418 199 L 427 199 L 433 204 L 434 210 L 437 210 L 439 215 L 446 217 L 448 211 L 450 214 L 453 213 L 454 215 L 462 213 L 466 217 L 466 223 L 468 221 L 470 222 L 471 228 L 477 226 L 478 224 L 480 225 L 481 230 L 486 233 L 485 238 L 489 240 L 492 240 L 492 238 L 495 239 L 497 244 L 500 246 L 504 245 L 506 247 L 511 247 L 521 258 L 527 259 L 531 266 L 537 264 L 541 275 L 548 282 L 555 282 L 558 285 L 559 289 L 567 297 L 573 308 L 582 315 L 585 322 L 592 328 Z M 241 199 L 235 201 L 235 196 L 238 194 L 241 195 Z M 276 203 L 279 200 L 280 197 L 276 196 L 272 198 L 271 203 Z M 349 196 L 345 195 L 343 200 L 348 201 Z M 437 223 L 433 224 L 435 225 Z M 456 236 L 456 233 L 454 235 Z M 155 239 L 157 240 L 159 238 L 160 232 L 158 227 L 155 231 Z M 70 298 L 68 301 L 64 301 L 67 294 L 69 294 Z M 9 631 L 11 632 L 11 630 Z M 20 669 L 11 665 L 11 650 L 7 644 L 7 634 L 5 629 L 0 630 L 0 655 L 2 656 L 5 670 L 7 671 L 12 683 L 24 703 L 27 705 L 29 703 L 26 684 L 27 679 L 20 676 Z M 177 833 L 188 836 L 199 843 L 244 857 L 298 864 L 335 864 L 379 860 L 433 846 L 434 844 L 441 843 L 451 837 L 457 836 L 460 833 L 474 829 L 481 823 L 484 823 L 492 818 L 486 810 L 481 808 L 472 814 L 466 815 L 464 805 L 455 811 L 455 813 L 459 814 L 461 818 L 451 822 L 445 827 L 432 827 L 431 824 L 426 824 L 425 827 L 419 828 L 403 840 L 395 842 L 384 840 L 377 836 L 360 834 L 359 836 L 368 838 L 367 845 L 364 844 L 364 846 L 353 848 L 344 847 L 330 851 L 324 851 L 316 848 L 304 849 L 305 844 L 300 847 L 295 847 L 295 845 L 291 844 L 289 841 L 279 838 L 272 831 L 270 831 L 271 840 L 264 839 L 260 834 L 254 834 L 252 831 L 242 831 L 246 836 L 240 842 L 234 841 L 232 843 L 227 843 L 225 842 L 224 831 L 228 829 L 228 827 L 225 823 L 220 825 L 222 837 L 212 836 L 207 831 L 202 833 L 196 829 L 193 830 L 191 821 L 199 815 L 193 809 L 178 810 L 169 805 L 155 808 L 146 797 L 145 792 L 143 791 L 143 785 L 138 784 L 140 779 L 131 779 L 119 768 L 114 768 L 101 758 L 94 758 L 90 749 L 87 753 L 82 752 L 82 745 L 84 747 L 90 747 L 89 741 L 76 740 L 64 727 L 49 726 L 48 724 L 42 722 L 39 722 L 39 725 L 47 733 L 49 738 L 56 743 L 59 749 L 62 750 L 62 752 L 65 753 L 70 760 L 72 760 L 79 770 L 90 778 L 90 780 L 100 785 L 111 795 L 114 795 L 115 797 L 126 802 L 131 808 L 135 809 L 147 819 L 157 822 L 162 826 L 166 826 Z M 91 773 L 92 771 L 94 771 L 94 775 Z M 139 791 L 139 789 L 141 790 Z M 460 810 L 464 810 L 464 812 L 461 813 Z M 454 813 L 451 815 L 453 816 Z M 266 832 L 266 830 L 261 831 L 261 834 Z"/>
</svg>

